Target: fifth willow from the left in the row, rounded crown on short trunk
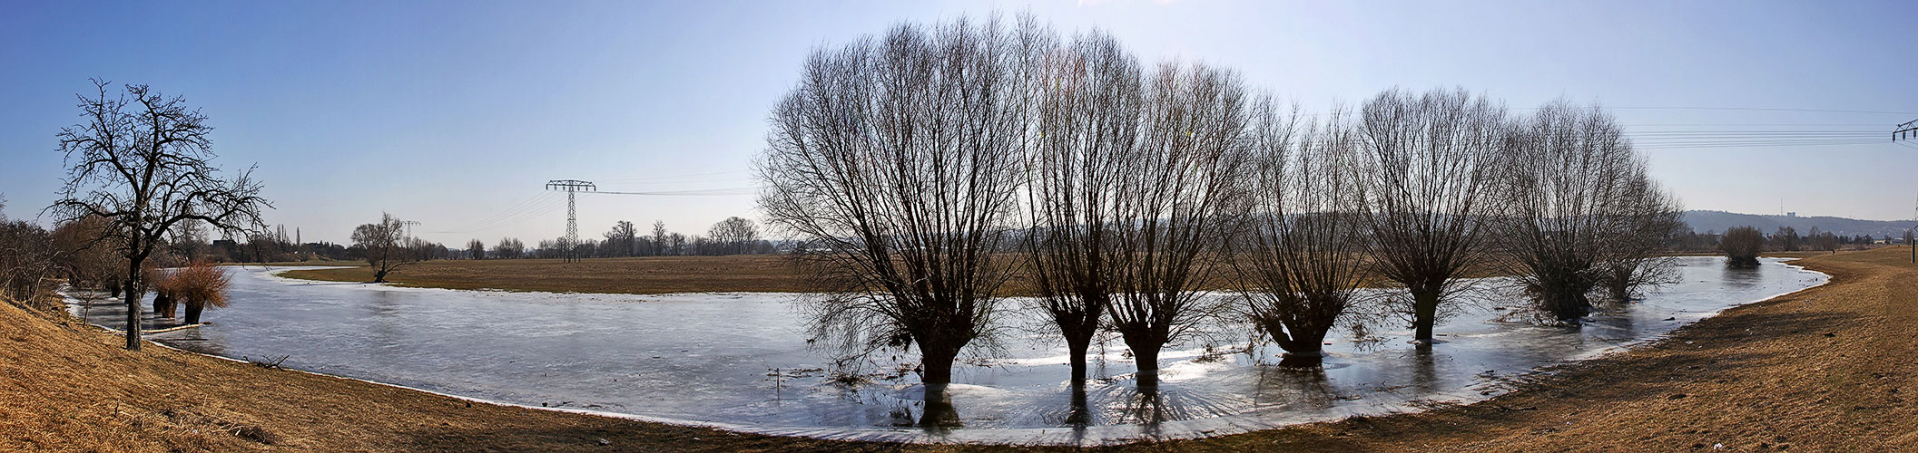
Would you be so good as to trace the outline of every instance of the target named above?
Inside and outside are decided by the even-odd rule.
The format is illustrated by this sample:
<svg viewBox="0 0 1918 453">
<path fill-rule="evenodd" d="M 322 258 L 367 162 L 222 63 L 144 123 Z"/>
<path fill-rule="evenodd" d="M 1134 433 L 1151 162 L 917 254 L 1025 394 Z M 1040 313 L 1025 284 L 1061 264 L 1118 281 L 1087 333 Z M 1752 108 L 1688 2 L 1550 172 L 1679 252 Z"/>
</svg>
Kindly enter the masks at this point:
<svg viewBox="0 0 1918 453">
<path fill-rule="evenodd" d="M 1467 271 L 1490 258 L 1486 214 L 1504 117 L 1504 105 L 1465 90 L 1389 90 L 1362 107 L 1352 168 L 1373 235 L 1368 256 L 1404 287 L 1387 302 L 1410 317 L 1414 342 L 1431 344 Z"/>
</svg>

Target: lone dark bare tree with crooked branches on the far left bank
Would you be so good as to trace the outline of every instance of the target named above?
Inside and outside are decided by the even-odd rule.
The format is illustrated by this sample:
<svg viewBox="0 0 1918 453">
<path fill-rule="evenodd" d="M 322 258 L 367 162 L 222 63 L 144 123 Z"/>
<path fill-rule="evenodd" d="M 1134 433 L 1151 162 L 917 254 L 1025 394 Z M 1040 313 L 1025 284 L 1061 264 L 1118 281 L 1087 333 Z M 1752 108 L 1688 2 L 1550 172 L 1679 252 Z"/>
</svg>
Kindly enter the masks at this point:
<svg viewBox="0 0 1918 453">
<path fill-rule="evenodd" d="M 79 96 L 86 120 L 59 130 L 67 182 L 48 208 L 67 222 L 111 220 L 107 239 L 127 258 L 127 350 L 140 350 L 140 270 L 175 226 L 205 222 L 242 235 L 261 229 L 261 208 L 272 205 L 259 197 L 251 170 L 217 178 L 213 126 L 184 97 L 165 97 L 144 84 L 109 97 L 107 86 L 94 80 L 98 97 Z"/>
</svg>

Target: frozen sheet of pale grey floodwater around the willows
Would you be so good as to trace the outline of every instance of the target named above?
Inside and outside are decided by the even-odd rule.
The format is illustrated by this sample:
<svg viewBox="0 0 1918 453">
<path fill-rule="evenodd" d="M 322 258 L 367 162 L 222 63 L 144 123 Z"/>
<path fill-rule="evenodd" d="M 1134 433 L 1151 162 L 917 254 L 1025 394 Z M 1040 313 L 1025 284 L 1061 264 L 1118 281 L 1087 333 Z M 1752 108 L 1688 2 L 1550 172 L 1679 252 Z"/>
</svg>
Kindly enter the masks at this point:
<svg viewBox="0 0 1918 453">
<path fill-rule="evenodd" d="M 1164 352 L 1158 384 L 1139 386 L 1124 344 L 1109 338 L 1093 346 L 1103 356 L 1091 359 L 1084 394 L 1064 382 L 1066 350 L 1053 333 L 1009 325 L 1003 354 L 959 365 L 944 392 L 949 405 L 934 403 L 930 415 L 919 378 L 894 371 L 892 357 L 865 369 L 871 382 L 830 380 L 827 356 L 809 352 L 798 329 L 792 294 L 395 289 L 232 268 L 232 306 L 209 310 L 211 325 L 150 338 L 224 357 L 286 356 L 286 367 L 443 394 L 750 432 L 1093 445 L 1481 401 L 1538 367 L 1826 281 L 1778 260 L 1757 270 L 1728 270 L 1722 258 L 1682 264 L 1682 283 L 1600 308 L 1582 327 L 1513 321 L 1508 313 L 1521 300 L 1477 294 L 1437 329 L 1440 344 L 1429 352 L 1406 344 L 1410 331 L 1350 338 L 1341 329 L 1327 338 L 1323 371 L 1275 367 L 1277 348 L 1245 348 L 1241 327 L 1218 327 Z M 111 302 L 75 312 L 107 327 L 125 313 Z"/>
</svg>

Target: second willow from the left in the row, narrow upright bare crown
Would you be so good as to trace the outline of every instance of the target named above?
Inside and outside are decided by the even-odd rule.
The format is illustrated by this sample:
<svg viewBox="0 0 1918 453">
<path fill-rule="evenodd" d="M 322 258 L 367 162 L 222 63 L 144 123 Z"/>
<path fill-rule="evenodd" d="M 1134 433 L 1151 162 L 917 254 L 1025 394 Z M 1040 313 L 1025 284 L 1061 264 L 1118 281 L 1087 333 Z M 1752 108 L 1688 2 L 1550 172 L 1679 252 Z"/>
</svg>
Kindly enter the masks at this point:
<svg viewBox="0 0 1918 453">
<path fill-rule="evenodd" d="M 1049 84 L 1034 97 L 1028 233 L 1038 304 L 1066 340 L 1072 384 L 1118 289 L 1114 254 L 1124 161 L 1139 143 L 1141 73 L 1111 34 L 1091 32 L 1040 55 Z"/>
</svg>

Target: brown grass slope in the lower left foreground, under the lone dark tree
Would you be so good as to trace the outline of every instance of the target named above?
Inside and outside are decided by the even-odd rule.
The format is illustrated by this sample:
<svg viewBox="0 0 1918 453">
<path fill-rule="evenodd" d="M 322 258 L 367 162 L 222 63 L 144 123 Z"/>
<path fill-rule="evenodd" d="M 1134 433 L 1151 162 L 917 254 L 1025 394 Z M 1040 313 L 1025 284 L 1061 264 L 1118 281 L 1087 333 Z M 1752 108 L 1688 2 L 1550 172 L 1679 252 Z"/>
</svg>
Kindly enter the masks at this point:
<svg viewBox="0 0 1918 453">
<path fill-rule="evenodd" d="M 888 449 L 466 403 L 150 346 L 0 304 L 0 451 Z M 602 445 L 600 440 L 606 440 Z"/>
</svg>

